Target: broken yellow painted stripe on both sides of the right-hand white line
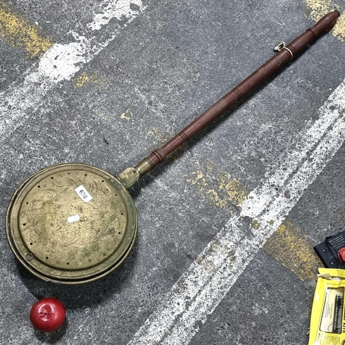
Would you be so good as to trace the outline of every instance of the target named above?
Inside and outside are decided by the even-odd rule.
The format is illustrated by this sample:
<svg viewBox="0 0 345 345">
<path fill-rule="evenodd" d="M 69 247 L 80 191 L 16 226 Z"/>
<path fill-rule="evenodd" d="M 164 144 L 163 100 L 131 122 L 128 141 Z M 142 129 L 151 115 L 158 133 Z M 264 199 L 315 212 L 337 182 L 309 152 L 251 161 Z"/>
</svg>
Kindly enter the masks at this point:
<svg viewBox="0 0 345 345">
<path fill-rule="evenodd" d="M 212 172 L 212 176 L 209 176 L 208 172 Z M 225 208 L 228 204 L 241 206 L 248 196 L 248 189 L 239 179 L 230 179 L 222 171 L 216 172 L 215 175 L 213 172 L 214 164 L 208 162 L 204 171 L 197 170 L 185 175 L 186 181 L 196 186 L 201 195 L 208 197 L 208 201 L 219 208 Z M 259 230 L 260 224 L 253 221 L 251 228 L 253 231 Z M 290 221 L 284 221 L 268 239 L 264 250 L 304 281 L 314 279 L 317 268 L 323 266 L 313 246 L 302 230 Z"/>
</svg>

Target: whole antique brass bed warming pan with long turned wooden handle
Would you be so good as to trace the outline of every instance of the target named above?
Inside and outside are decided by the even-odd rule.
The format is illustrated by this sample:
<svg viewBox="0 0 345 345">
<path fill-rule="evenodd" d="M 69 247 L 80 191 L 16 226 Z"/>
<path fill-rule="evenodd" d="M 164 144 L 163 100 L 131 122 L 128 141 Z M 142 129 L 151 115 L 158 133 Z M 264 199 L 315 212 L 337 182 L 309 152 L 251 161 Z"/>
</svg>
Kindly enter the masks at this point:
<svg viewBox="0 0 345 345">
<path fill-rule="evenodd" d="M 242 83 L 135 168 L 117 176 L 86 164 L 45 168 L 17 188 L 6 214 L 6 235 L 19 262 L 35 276 L 59 284 L 81 284 L 115 270 L 137 235 L 137 211 L 128 188 L 187 139 L 301 52 L 335 23 L 326 14 Z"/>
</svg>

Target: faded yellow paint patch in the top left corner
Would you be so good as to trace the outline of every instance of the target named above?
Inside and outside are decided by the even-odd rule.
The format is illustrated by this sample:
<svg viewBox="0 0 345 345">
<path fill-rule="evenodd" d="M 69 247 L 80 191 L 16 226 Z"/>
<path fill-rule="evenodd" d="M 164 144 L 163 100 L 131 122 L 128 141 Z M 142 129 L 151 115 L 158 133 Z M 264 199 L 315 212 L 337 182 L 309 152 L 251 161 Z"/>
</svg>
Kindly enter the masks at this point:
<svg viewBox="0 0 345 345">
<path fill-rule="evenodd" d="M 30 59 L 40 57 L 53 44 L 42 30 L 0 0 L 0 39 L 15 49 L 25 50 Z"/>
</svg>

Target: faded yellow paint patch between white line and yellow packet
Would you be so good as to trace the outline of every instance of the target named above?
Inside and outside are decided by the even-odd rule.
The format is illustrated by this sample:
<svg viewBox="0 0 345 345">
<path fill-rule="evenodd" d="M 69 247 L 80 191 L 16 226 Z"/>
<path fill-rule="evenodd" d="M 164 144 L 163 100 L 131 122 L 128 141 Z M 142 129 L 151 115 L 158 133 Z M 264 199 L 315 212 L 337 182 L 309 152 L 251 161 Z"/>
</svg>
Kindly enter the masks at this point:
<svg viewBox="0 0 345 345">
<path fill-rule="evenodd" d="M 284 221 L 277 228 L 264 250 L 302 281 L 315 279 L 317 268 L 323 267 L 308 237 L 290 221 Z"/>
</svg>

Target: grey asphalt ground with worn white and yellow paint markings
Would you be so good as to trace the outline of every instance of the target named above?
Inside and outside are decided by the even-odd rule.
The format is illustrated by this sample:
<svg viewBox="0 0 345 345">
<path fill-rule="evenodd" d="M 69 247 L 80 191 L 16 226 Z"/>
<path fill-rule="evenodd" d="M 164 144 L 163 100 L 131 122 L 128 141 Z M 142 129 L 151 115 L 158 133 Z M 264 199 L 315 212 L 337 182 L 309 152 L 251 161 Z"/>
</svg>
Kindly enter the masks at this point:
<svg viewBox="0 0 345 345">
<path fill-rule="evenodd" d="M 319 137 L 315 128 L 344 79 L 343 17 L 130 189 L 137 241 L 107 277 L 61 286 L 32 276 L 8 246 L 5 215 L 17 186 L 46 166 L 135 166 L 277 43 L 344 8 L 1 0 L 1 344 L 306 344 L 322 266 L 313 246 L 344 230 L 344 119 Z M 262 195 L 271 203 L 253 214 Z M 48 296 L 66 322 L 39 333 L 28 314 Z"/>
</svg>

